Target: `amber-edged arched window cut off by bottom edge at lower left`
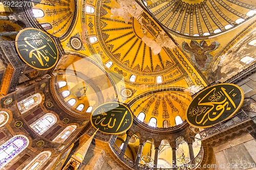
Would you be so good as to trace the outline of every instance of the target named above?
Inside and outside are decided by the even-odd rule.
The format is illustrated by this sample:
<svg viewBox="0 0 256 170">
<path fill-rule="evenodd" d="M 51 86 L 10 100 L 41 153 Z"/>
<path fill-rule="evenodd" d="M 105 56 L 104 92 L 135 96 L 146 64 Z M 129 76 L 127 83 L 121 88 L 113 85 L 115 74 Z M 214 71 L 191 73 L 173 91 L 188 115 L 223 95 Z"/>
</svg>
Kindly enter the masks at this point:
<svg viewBox="0 0 256 170">
<path fill-rule="evenodd" d="M 44 151 L 38 154 L 23 170 L 37 170 L 42 167 L 42 165 L 48 161 L 48 158 L 52 155 L 51 151 Z"/>
</svg>

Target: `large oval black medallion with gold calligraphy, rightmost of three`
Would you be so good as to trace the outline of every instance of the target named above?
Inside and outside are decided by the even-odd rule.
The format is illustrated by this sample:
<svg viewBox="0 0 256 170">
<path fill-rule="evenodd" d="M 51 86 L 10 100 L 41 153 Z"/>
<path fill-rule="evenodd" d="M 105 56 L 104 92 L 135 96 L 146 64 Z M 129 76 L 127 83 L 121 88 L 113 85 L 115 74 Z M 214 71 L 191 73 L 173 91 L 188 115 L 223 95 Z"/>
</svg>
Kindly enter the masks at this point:
<svg viewBox="0 0 256 170">
<path fill-rule="evenodd" d="M 244 101 L 243 90 L 234 84 L 217 84 L 201 91 L 186 110 L 187 122 L 207 128 L 235 114 Z"/>
</svg>

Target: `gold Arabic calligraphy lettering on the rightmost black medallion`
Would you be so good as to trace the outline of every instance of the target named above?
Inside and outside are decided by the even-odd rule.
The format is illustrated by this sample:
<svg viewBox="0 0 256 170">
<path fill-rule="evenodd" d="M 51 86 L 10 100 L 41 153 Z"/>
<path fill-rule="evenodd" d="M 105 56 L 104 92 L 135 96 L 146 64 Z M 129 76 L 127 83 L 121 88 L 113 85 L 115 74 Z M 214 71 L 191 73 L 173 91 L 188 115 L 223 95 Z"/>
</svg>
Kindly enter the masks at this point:
<svg viewBox="0 0 256 170">
<path fill-rule="evenodd" d="M 229 94 L 233 91 L 232 89 Z M 211 94 L 213 93 L 213 94 Z M 209 96 L 209 94 L 211 94 Z M 221 90 L 216 91 L 216 88 L 212 88 L 199 102 L 198 106 L 195 106 L 189 110 L 191 117 L 196 115 L 196 123 L 198 125 L 204 125 L 208 120 L 213 122 L 217 120 L 225 110 L 230 110 L 231 107 L 236 109 L 236 105 L 226 92 L 226 89 L 221 87 Z M 232 93 L 231 96 L 236 96 L 236 93 Z M 208 100 L 206 99 L 208 96 Z M 220 101 L 223 99 L 222 101 Z M 216 107 L 215 107 L 216 106 Z M 215 109 L 215 110 L 214 110 Z"/>
</svg>

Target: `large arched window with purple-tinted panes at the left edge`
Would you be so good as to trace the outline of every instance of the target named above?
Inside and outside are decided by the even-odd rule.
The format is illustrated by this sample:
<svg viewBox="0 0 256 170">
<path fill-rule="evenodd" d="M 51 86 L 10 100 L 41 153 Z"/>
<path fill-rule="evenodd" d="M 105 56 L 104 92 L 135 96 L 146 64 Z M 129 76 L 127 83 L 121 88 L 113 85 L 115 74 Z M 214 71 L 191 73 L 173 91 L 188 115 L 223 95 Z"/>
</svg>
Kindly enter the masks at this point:
<svg viewBox="0 0 256 170">
<path fill-rule="evenodd" d="M 29 145 L 29 139 L 24 135 L 16 135 L 6 141 L 0 147 L 0 169 L 25 150 Z"/>
</svg>

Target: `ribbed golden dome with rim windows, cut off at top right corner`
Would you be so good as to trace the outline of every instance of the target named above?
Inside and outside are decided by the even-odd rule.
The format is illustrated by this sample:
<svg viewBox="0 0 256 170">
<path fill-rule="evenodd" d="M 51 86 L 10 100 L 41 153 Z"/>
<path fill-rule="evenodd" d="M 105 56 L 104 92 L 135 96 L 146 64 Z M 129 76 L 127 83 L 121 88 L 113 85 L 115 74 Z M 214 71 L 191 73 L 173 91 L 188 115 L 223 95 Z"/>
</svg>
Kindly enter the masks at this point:
<svg viewBox="0 0 256 170">
<path fill-rule="evenodd" d="M 210 36 L 239 26 L 255 14 L 253 1 L 241 0 L 156 0 L 145 7 L 170 33 Z"/>
</svg>

